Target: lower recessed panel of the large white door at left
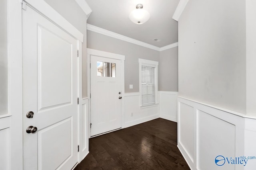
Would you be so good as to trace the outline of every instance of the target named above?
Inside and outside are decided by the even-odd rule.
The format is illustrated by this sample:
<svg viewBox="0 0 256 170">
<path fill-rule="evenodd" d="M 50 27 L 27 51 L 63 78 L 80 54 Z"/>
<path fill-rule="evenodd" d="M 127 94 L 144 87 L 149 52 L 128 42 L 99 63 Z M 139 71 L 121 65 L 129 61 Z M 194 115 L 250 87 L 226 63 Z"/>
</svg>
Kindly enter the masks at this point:
<svg viewBox="0 0 256 170">
<path fill-rule="evenodd" d="M 74 149 L 71 141 L 71 117 L 38 131 L 39 169 L 53 170 L 68 160 Z"/>
</svg>

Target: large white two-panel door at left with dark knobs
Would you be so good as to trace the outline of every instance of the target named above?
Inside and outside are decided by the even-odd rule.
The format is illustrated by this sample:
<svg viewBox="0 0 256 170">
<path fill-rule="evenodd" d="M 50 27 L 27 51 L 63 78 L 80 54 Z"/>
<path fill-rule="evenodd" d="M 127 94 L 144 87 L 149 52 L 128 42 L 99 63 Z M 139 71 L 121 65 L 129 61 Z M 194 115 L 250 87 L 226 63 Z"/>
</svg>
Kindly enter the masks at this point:
<svg viewBox="0 0 256 170">
<path fill-rule="evenodd" d="M 24 170 L 70 170 L 78 161 L 78 41 L 28 6 L 22 29 Z"/>
</svg>

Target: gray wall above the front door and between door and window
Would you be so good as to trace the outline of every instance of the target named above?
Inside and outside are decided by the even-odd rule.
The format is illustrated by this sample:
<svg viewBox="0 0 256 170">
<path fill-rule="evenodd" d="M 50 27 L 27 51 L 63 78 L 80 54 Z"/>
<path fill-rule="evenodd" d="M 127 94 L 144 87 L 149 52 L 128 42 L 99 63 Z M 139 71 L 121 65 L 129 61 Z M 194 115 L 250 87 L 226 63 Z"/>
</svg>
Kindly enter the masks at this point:
<svg viewBox="0 0 256 170">
<path fill-rule="evenodd" d="M 87 31 L 87 47 L 90 49 L 125 55 L 124 86 L 126 93 L 139 92 L 139 58 L 159 61 L 159 51 L 89 30 Z M 133 84 L 133 89 L 129 88 L 129 84 Z"/>
</svg>

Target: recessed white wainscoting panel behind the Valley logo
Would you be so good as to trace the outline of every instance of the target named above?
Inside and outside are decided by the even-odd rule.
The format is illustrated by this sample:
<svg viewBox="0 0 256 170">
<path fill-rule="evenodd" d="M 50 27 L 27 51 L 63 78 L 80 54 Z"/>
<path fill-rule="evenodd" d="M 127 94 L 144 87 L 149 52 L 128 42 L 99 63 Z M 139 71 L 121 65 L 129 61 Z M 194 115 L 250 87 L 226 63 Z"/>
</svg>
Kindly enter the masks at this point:
<svg viewBox="0 0 256 170">
<path fill-rule="evenodd" d="M 235 169 L 228 163 L 235 158 L 235 125 L 199 110 L 197 133 L 198 170 Z"/>
</svg>

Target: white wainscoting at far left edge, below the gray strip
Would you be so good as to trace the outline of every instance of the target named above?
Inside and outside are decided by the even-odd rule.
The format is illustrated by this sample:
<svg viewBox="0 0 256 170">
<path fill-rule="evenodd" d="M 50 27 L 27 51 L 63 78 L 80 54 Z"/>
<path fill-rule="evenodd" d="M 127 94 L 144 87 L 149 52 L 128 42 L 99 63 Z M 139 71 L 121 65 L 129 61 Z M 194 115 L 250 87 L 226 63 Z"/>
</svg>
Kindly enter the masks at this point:
<svg viewBox="0 0 256 170">
<path fill-rule="evenodd" d="M 0 169 L 9 170 L 11 163 L 10 117 L 0 118 Z"/>
</svg>

